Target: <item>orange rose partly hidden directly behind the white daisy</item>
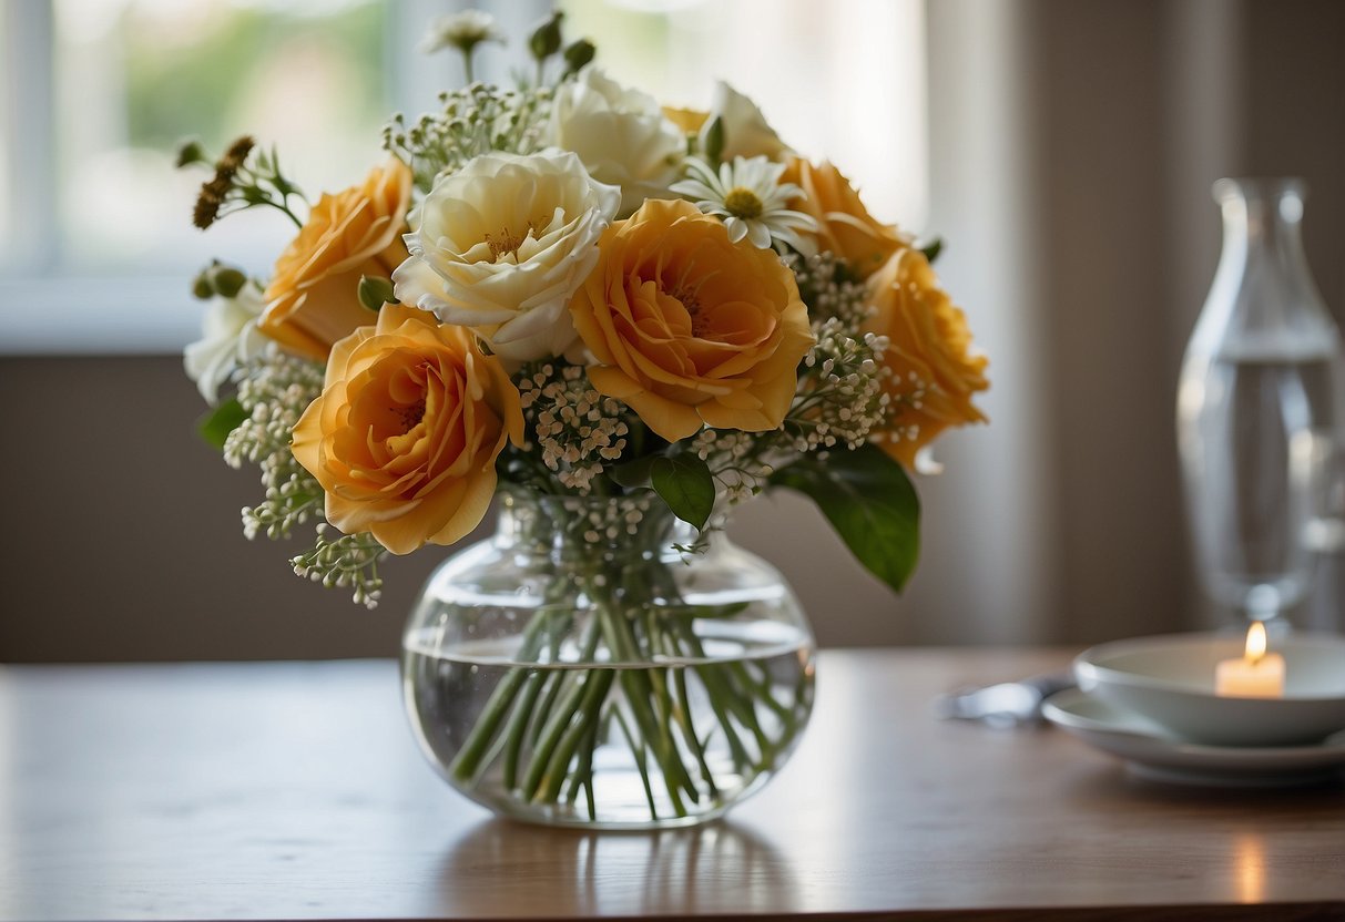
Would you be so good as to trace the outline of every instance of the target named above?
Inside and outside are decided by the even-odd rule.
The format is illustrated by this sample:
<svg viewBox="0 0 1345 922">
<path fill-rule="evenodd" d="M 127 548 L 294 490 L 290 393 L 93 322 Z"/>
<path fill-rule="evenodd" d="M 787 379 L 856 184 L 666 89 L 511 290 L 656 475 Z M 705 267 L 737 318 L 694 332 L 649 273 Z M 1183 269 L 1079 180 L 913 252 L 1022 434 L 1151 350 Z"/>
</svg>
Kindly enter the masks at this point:
<svg viewBox="0 0 1345 922">
<path fill-rule="evenodd" d="M 869 214 L 850 180 L 830 163 L 814 165 L 791 156 L 780 181 L 803 190 L 804 198 L 791 200 L 788 207 L 818 222 L 818 249 L 837 254 L 861 277 L 873 274 L 888 257 L 911 246 L 911 237 Z"/>
</svg>

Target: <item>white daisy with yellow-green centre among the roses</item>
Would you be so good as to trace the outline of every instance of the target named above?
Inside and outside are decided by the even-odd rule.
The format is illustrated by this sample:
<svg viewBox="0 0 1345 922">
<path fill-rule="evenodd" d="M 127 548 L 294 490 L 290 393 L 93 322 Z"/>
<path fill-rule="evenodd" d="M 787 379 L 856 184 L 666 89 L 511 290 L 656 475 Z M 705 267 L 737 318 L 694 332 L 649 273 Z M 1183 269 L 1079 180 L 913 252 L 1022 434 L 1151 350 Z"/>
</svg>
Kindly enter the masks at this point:
<svg viewBox="0 0 1345 922">
<path fill-rule="evenodd" d="M 720 172 L 702 160 L 687 160 L 690 179 L 672 184 L 672 191 L 695 202 L 707 215 L 724 219 L 729 239 L 744 237 L 763 250 L 772 242 L 787 243 L 804 255 L 815 251 L 812 241 L 799 231 L 814 231 L 816 222 L 802 211 L 791 211 L 791 199 L 803 196 L 794 183 L 780 183 L 784 164 L 765 157 L 734 157 L 720 164 Z"/>
</svg>

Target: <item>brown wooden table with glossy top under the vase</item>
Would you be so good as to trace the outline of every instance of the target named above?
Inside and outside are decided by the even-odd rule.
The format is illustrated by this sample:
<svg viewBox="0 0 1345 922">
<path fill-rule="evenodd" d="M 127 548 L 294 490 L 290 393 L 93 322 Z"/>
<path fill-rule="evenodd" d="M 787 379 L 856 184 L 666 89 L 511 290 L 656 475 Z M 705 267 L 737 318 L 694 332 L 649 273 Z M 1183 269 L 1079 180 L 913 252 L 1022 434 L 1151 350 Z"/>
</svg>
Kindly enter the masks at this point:
<svg viewBox="0 0 1345 922">
<path fill-rule="evenodd" d="M 0 918 L 1342 919 L 1345 792 L 1165 788 L 931 698 L 1064 652 L 829 651 L 792 762 L 726 821 L 494 820 L 390 661 L 0 668 Z"/>
</svg>

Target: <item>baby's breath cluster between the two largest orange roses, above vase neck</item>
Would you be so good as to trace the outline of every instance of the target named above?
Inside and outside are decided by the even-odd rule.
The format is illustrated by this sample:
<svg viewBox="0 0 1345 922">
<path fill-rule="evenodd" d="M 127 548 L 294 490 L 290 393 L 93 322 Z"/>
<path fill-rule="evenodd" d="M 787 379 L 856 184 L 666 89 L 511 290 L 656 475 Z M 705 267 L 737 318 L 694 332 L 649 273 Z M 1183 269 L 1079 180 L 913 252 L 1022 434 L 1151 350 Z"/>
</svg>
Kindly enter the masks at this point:
<svg viewBox="0 0 1345 922">
<path fill-rule="evenodd" d="M 529 441 L 535 439 L 542 464 L 568 489 L 590 493 L 593 480 L 625 452 L 629 411 L 599 394 L 582 366 L 534 363 L 516 380 Z"/>
</svg>

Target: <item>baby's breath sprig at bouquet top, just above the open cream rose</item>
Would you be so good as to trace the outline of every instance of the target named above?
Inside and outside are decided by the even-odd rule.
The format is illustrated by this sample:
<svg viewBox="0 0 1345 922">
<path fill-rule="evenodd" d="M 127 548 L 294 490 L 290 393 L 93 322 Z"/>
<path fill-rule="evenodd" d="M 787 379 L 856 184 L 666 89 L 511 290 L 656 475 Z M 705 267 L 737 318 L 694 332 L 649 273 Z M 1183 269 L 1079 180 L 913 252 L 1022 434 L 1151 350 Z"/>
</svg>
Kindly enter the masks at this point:
<svg viewBox="0 0 1345 922">
<path fill-rule="evenodd" d="M 412 165 L 416 185 L 428 192 L 441 173 L 452 173 L 482 153 L 533 153 L 543 146 L 551 110 L 547 86 L 503 90 L 472 83 L 438 94 L 443 109 L 412 124 L 401 113 L 383 128 L 383 149 Z"/>
</svg>

